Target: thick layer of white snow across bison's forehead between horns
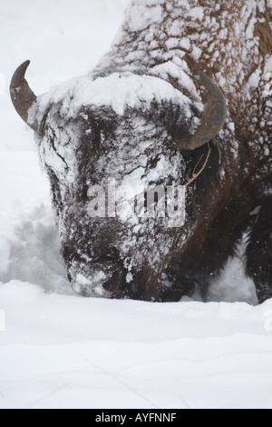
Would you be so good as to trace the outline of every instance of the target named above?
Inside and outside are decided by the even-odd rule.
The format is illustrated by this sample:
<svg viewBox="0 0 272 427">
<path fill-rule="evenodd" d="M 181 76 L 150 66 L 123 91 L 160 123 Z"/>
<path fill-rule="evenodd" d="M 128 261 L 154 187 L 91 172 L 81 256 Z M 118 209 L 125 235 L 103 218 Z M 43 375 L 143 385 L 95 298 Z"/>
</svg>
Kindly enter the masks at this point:
<svg viewBox="0 0 272 427">
<path fill-rule="evenodd" d="M 49 105 L 61 104 L 60 113 L 73 118 L 85 106 L 109 106 L 123 115 L 127 107 L 149 107 L 153 101 L 182 105 L 184 114 L 191 117 L 189 98 L 168 82 L 150 75 L 114 73 L 96 80 L 86 75 L 60 84 L 38 98 L 41 114 Z"/>
</svg>

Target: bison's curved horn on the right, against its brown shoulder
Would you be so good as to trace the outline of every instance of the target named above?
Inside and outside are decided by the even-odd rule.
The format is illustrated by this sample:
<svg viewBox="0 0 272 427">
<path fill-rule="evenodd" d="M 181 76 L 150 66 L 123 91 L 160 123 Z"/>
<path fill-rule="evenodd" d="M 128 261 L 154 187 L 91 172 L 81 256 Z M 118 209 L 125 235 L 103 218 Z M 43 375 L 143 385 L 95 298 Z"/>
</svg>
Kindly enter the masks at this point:
<svg viewBox="0 0 272 427">
<path fill-rule="evenodd" d="M 226 122 L 227 104 L 219 87 L 208 77 L 207 74 L 199 72 L 201 80 L 205 85 L 209 99 L 208 104 L 201 116 L 201 122 L 193 135 L 180 135 L 176 133 L 176 141 L 180 150 L 195 150 L 201 145 L 209 143 Z"/>
</svg>

